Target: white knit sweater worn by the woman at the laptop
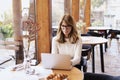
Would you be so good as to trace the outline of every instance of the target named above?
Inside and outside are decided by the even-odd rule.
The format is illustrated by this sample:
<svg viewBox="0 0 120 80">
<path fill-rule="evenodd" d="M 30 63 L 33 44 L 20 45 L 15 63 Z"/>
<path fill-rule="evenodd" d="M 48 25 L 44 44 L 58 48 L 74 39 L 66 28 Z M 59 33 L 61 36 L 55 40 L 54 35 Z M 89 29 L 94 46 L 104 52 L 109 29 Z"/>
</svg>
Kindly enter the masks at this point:
<svg viewBox="0 0 120 80">
<path fill-rule="evenodd" d="M 56 41 L 56 37 L 52 39 L 52 54 L 67 54 L 71 56 L 72 65 L 80 63 L 81 51 L 82 51 L 82 40 L 81 38 L 75 43 L 71 44 L 69 39 L 67 42 L 59 43 Z"/>
</svg>

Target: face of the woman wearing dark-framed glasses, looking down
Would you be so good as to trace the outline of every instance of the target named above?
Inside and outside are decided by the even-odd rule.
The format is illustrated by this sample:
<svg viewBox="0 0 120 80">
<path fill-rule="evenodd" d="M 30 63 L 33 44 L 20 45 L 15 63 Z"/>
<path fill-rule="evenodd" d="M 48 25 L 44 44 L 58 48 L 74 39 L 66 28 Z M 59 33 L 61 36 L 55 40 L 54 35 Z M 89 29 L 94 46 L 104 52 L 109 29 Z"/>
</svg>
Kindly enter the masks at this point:
<svg viewBox="0 0 120 80">
<path fill-rule="evenodd" d="M 67 25 L 65 21 L 62 22 L 61 29 L 65 37 L 67 38 L 69 33 L 71 32 L 72 27 L 70 25 Z"/>
</svg>

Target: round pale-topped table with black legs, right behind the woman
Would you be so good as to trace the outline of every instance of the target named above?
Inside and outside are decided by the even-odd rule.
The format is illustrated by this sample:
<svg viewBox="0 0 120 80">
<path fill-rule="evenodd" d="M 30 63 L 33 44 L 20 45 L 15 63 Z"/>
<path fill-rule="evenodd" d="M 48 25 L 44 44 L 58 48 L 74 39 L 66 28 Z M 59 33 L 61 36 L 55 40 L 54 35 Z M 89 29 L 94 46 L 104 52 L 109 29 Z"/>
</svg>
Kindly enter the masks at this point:
<svg viewBox="0 0 120 80">
<path fill-rule="evenodd" d="M 108 40 L 102 37 L 93 37 L 93 36 L 82 36 L 82 44 L 92 45 L 92 72 L 95 72 L 95 56 L 94 56 L 94 47 L 100 45 L 100 58 L 101 58 L 101 71 L 104 72 L 104 55 L 103 55 L 103 46 L 102 44 L 107 43 Z"/>
</svg>

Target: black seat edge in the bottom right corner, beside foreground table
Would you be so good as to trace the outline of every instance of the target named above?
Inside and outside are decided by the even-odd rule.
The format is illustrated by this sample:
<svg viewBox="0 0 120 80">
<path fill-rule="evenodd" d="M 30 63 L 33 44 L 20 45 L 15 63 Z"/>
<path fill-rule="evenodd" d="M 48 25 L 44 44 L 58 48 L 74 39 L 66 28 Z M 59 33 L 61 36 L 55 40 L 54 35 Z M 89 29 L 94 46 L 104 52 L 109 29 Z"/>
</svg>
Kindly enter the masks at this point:
<svg viewBox="0 0 120 80">
<path fill-rule="evenodd" d="M 84 73 L 84 80 L 120 80 L 120 76 L 111 76 L 98 73 Z"/>
</svg>

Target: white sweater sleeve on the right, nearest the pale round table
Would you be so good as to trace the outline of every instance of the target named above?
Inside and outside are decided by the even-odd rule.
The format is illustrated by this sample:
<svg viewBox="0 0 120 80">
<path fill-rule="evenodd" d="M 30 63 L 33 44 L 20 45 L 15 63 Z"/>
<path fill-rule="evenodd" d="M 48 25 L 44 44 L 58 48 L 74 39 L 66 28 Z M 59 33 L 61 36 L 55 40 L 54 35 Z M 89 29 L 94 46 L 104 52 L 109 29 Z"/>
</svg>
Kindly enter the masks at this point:
<svg viewBox="0 0 120 80">
<path fill-rule="evenodd" d="M 80 38 L 76 45 L 74 57 L 71 60 L 73 66 L 80 63 L 81 52 L 82 52 L 82 39 Z"/>
</svg>

